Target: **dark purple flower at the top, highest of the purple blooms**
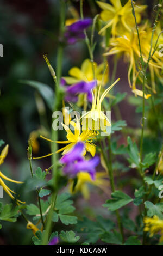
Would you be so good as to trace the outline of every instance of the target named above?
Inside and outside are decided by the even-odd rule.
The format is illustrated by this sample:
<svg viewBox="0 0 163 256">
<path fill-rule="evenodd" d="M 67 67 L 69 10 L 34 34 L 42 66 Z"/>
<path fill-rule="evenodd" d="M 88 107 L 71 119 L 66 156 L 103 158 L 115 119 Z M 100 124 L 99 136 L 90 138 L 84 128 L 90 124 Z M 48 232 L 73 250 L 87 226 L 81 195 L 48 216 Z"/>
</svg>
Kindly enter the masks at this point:
<svg viewBox="0 0 163 256">
<path fill-rule="evenodd" d="M 92 24 L 92 19 L 83 19 L 66 27 L 65 38 L 68 44 L 75 44 L 80 39 L 85 39 L 84 29 Z"/>
</svg>

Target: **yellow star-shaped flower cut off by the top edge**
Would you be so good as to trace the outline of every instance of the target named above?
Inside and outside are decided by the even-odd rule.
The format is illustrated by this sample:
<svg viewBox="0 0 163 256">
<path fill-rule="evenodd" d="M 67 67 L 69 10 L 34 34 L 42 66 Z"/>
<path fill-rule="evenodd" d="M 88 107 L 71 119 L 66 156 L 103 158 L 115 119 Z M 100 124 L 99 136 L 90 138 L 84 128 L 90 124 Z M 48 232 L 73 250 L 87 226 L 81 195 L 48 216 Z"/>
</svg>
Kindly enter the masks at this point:
<svg viewBox="0 0 163 256">
<path fill-rule="evenodd" d="M 131 29 L 135 26 L 131 1 L 129 0 L 124 7 L 122 7 L 120 0 L 110 0 L 110 2 L 112 5 L 97 1 L 99 7 L 103 9 L 100 15 L 101 19 L 107 22 L 107 25 L 99 31 L 99 34 L 102 34 L 105 29 L 109 27 L 112 27 L 112 35 L 114 36 L 123 34 L 126 31 L 131 32 Z M 135 5 L 137 23 L 141 21 L 140 13 L 142 13 L 146 7 L 147 5 Z"/>
</svg>

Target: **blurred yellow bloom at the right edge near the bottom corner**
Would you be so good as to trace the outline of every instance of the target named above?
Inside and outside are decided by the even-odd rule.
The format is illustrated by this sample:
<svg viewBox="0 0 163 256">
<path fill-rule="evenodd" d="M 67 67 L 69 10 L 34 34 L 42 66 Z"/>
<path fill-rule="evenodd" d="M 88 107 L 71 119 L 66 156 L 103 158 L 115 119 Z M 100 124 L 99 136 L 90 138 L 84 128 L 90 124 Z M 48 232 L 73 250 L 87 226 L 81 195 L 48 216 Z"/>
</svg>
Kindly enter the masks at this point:
<svg viewBox="0 0 163 256">
<path fill-rule="evenodd" d="M 146 217 L 144 219 L 145 222 L 145 231 L 149 231 L 150 237 L 154 234 L 159 233 L 161 234 L 160 242 L 163 242 L 163 220 L 160 220 L 158 216 L 153 216 L 153 218 Z"/>
</svg>

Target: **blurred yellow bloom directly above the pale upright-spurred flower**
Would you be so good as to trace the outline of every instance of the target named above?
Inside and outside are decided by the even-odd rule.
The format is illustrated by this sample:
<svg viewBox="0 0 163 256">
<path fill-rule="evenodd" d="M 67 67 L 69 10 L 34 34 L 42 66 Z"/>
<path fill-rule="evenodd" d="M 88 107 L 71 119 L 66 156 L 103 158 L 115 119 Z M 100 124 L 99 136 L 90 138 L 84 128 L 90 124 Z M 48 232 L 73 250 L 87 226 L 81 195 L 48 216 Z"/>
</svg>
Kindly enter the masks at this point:
<svg viewBox="0 0 163 256">
<path fill-rule="evenodd" d="M 95 70 L 95 74 L 94 71 Z M 103 70 L 104 70 L 104 63 L 97 65 L 96 62 L 92 62 L 90 59 L 85 59 L 84 62 L 82 63 L 81 68 L 78 67 L 73 67 L 69 70 L 68 74 L 70 76 L 63 77 L 67 84 L 73 84 L 77 83 L 80 81 L 85 81 L 85 82 L 91 82 L 92 80 L 97 80 L 97 84 L 99 84 L 102 80 L 103 77 Z M 104 84 L 108 80 L 108 72 L 105 73 L 104 77 Z"/>
</svg>

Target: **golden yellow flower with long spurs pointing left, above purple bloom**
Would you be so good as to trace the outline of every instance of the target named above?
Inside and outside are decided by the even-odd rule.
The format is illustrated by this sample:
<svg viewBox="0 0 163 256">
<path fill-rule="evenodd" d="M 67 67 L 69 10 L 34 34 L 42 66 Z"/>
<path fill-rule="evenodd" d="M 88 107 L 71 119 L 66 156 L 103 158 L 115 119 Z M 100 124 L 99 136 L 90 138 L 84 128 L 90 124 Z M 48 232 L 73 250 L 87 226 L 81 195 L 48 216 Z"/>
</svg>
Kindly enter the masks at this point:
<svg viewBox="0 0 163 256">
<path fill-rule="evenodd" d="M 55 142 L 59 144 L 68 144 L 65 147 L 57 150 L 55 153 L 59 153 L 63 151 L 62 155 L 65 155 L 68 151 L 70 151 L 74 147 L 75 144 L 77 144 L 78 142 L 83 142 L 85 146 L 83 155 L 85 155 L 87 151 L 87 152 L 90 152 L 92 156 L 95 156 L 96 145 L 93 144 L 92 141 L 96 139 L 97 132 L 86 130 L 81 133 L 81 127 L 78 119 L 76 123 L 71 121 L 70 124 L 73 126 L 74 133 L 71 131 L 71 129 L 67 125 L 62 124 L 62 126 L 65 128 L 67 132 L 67 141 L 52 141 L 51 139 L 45 138 L 43 136 L 40 136 L 40 137 L 43 139 L 46 139 L 46 141 L 49 141 L 49 142 Z M 53 154 L 54 153 L 50 153 L 46 156 L 51 156 Z M 40 159 L 46 156 L 33 157 L 33 159 Z"/>
</svg>

